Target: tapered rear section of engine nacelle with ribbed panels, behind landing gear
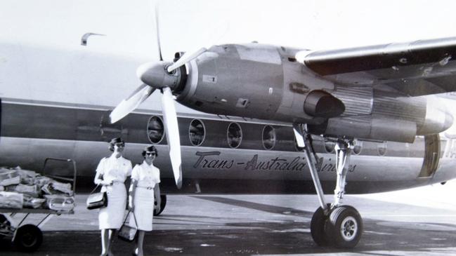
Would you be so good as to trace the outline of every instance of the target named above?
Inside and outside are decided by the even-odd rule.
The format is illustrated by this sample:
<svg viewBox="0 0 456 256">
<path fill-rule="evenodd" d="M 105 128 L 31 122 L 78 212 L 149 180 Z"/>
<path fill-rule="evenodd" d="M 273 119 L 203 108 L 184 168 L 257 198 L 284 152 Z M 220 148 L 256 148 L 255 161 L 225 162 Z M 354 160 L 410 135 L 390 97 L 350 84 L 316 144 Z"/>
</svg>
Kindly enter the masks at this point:
<svg viewBox="0 0 456 256">
<path fill-rule="evenodd" d="M 417 135 L 441 133 L 452 126 L 452 116 L 436 98 L 391 96 L 391 93 L 374 91 L 370 114 L 342 114 L 327 119 L 324 124 L 309 125 L 309 131 L 334 137 L 411 143 Z M 349 102 L 346 105 L 350 107 Z"/>
</svg>

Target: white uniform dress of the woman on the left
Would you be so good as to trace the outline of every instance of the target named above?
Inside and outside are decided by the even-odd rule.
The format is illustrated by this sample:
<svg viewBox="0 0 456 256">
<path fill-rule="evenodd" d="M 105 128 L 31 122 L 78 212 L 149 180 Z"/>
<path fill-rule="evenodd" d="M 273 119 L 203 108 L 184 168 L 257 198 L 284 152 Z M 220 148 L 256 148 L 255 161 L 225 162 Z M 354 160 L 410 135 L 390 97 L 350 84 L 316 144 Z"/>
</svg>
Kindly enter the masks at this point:
<svg viewBox="0 0 456 256">
<path fill-rule="evenodd" d="M 98 223 L 100 229 L 120 229 L 123 223 L 126 207 L 126 177 L 131 175 L 131 161 L 122 156 L 114 155 L 101 159 L 96 168 L 97 173 L 103 175 L 103 180 L 113 182 L 110 186 L 103 186 L 101 191 L 108 194 L 108 206 L 100 208 Z"/>
</svg>

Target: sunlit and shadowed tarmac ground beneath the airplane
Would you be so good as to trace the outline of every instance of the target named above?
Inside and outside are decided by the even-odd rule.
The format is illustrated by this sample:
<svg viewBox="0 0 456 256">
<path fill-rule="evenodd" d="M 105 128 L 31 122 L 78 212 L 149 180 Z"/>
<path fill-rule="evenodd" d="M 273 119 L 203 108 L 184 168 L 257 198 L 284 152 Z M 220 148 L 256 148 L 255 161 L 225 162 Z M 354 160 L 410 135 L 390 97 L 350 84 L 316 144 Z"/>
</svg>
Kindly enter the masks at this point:
<svg viewBox="0 0 456 256">
<path fill-rule="evenodd" d="M 456 182 L 448 182 L 346 196 L 344 203 L 356 207 L 364 221 L 353 250 L 313 243 L 315 195 L 169 195 L 144 250 L 146 255 L 456 255 L 455 192 Z M 77 196 L 74 215 L 53 217 L 42 227 L 44 242 L 32 255 L 100 254 L 98 212 L 86 210 L 86 196 Z M 0 245 L 0 255 L 30 255 L 5 238 Z M 116 238 L 115 255 L 132 250 L 133 243 Z"/>
</svg>

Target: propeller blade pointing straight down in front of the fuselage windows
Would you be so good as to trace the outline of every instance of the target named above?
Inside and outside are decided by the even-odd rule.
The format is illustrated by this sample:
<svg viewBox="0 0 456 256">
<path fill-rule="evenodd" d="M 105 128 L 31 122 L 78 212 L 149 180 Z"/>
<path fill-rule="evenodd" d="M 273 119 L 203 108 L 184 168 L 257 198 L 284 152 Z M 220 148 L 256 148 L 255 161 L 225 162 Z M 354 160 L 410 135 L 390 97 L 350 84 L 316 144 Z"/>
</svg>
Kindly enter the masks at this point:
<svg viewBox="0 0 456 256">
<path fill-rule="evenodd" d="M 174 107 L 173 94 L 169 87 L 163 88 L 162 111 L 169 145 L 169 159 L 171 159 L 176 186 L 180 189 L 182 187 L 181 141 L 179 140 L 176 107 Z"/>
</svg>

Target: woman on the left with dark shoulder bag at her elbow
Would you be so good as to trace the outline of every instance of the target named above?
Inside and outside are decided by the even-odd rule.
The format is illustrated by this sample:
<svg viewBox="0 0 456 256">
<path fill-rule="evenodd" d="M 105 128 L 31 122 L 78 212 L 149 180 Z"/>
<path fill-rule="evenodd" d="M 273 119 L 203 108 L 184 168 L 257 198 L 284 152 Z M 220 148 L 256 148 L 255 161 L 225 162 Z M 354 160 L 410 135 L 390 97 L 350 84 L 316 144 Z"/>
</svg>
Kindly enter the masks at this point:
<svg viewBox="0 0 456 256">
<path fill-rule="evenodd" d="M 101 159 L 96 168 L 95 184 L 103 185 L 101 191 L 108 194 L 108 206 L 100 209 L 98 222 L 101 229 L 101 255 L 112 255 L 110 245 L 115 229 L 122 226 L 126 206 L 126 177 L 131 175 L 131 161 L 122 157 L 125 142 L 115 137 L 111 140 L 110 157 Z"/>
</svg>

